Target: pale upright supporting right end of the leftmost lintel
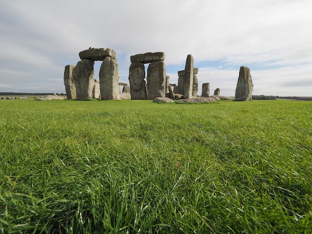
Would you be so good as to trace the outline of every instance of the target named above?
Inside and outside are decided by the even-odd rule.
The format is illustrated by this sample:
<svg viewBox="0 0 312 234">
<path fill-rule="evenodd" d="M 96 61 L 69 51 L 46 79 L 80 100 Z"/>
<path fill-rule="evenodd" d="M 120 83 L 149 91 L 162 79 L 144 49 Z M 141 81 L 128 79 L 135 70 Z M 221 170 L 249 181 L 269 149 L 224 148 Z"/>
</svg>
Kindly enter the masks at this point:
<svg viewBox="0 0 312 234">
<path fill-rule="evenodd" d="M 119 70 L 117 59 L 106 57 L 100 67 L 100 87 L 102 100 L 119 100 Z"/>
</svg>

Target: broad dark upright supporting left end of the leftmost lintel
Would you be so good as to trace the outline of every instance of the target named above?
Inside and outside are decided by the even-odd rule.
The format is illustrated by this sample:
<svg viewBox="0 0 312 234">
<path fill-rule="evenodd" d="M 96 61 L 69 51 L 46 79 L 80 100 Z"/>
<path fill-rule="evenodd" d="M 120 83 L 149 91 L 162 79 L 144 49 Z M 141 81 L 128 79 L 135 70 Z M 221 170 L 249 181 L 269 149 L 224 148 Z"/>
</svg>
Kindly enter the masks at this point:
<svg viewBox="0 0 312 234">
<path fill-rule="evenodd" d="M 73 68 L 73 82 L 76 87 L 76 99 L 89 100 L 93 97 L 94 88 L 94 61 L 82 59 Z"/>
</svg>

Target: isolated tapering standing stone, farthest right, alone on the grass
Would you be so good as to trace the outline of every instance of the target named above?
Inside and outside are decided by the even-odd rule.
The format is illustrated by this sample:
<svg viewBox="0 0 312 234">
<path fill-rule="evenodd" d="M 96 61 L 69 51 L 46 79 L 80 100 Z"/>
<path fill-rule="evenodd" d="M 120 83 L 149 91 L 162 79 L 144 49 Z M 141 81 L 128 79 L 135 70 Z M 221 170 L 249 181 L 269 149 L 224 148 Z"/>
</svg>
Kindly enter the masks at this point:
<svg viewBox="0 0 312 234">
<path fill-rule="evenodd" d="M 250 70 L 248 67 L 241 67 L 235 90 L 234 101 L 250 101 L 252 100 L 252 91 L 254 84 L 252 83 Z"/>
</svg>

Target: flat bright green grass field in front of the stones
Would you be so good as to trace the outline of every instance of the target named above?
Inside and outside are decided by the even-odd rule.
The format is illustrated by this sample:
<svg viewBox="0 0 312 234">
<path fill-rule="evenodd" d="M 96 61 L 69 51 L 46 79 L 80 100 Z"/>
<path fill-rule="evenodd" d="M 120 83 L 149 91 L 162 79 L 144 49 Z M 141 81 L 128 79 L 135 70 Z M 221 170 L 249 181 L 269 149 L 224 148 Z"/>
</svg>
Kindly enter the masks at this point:
<svg viewBox="0 0 312 234">
<path fill-rule="evenodd" d="M 310 233 L 312 103 L 0 100 L 0 233 Z"/>
</svg>

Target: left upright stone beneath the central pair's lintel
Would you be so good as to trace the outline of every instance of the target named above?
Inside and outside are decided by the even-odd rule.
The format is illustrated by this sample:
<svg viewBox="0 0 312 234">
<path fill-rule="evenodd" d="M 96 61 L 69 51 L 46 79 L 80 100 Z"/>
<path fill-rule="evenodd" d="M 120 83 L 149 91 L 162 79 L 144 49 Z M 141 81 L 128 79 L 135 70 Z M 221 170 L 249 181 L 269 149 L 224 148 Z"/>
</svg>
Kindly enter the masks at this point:
<svg viewBox="0 0 312 234">
<path fill-rule="evenodd" d="M 143 63 L 132 63 L 129 68 L 129 82 L 131 99 L 147 100 L 145 82 L 145 68 Z"/>
</svg>

